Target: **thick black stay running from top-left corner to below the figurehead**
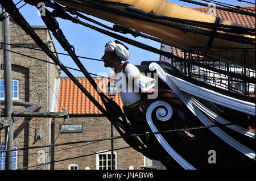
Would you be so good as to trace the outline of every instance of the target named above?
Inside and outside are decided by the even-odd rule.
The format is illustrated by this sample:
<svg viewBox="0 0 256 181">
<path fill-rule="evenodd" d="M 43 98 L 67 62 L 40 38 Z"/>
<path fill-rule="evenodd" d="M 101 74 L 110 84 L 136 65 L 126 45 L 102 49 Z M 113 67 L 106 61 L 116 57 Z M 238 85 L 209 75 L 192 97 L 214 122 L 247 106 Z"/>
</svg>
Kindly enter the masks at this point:
<svg viewBox="0 0 256 181">
<path fill-rule="evenodd" d="M 65 68 L 65 66 L 59 61 L 59 59 L 49 50 L 47 45 L 43 43 L 43 41 L 40 39 L 40 37 L 35 33 L 35 31 L 32 29 L 32 27 L 27 23 L 26 19 L 20 14 L 19 10 L 15 7 L 13 1 L 11 0 L 0 0 L 2 6 L 4 9 L 11 15 L 11 18 L 15 20 L 15 22 L 28 34 L 30 37 L 36 42 L 36 44 L 39 45 L 39 47 L 44 50 L 44 52 L 51 58 L 60 68 L 64 71 L 65 74 L 68 75 L 69 78 L 75 83 L 77 87 L 90 99 L 90 101 L 106 116 L 107 119 L 110 120 L 111 123 L 113 123 L 115 129 L 117 129 L 118 133 L 122 136 L 124 135 L 131 135 L 134 132 L 133 127 L 129 123 L 126 122 L 126 120 L 119 119 L 119 114 L 122 113 L 121 108 L 115 107 L 114 104 L 109 104 L 108 111 L 105 110 L 104 107 L 101 106 L 100 103 L 97 102 L 97 100 L 85 89 L 84 86 L 81 85 L 81 83 L 75 78 L 72 73 Z M 32 5 L 37 5 L 36 1 L 31 1 Z M 49 1 L 51 2 L 51 1 Z M 53 20 L 54 21 L 54 20 Z M 51 22 L 51 20 L 50 20 Z M 55 24 L 52 24 L 52 26 L 55 26 Z M 49 27 L 48 27 L 49 28 Z M 115 102 L 114 102 L 115 103 Z M 116 104 L 116 103 L 115 103 Z M 119 112 L 116 111 L 116 109 L 119 108 Z M 110 114 L 109 112 L 115 113 Z M 120 112 L 121 111 L 121 112 Z M 118 126 L 118 123 L 123 126 L 123 131 L 121 131 L 121 128 Z M 143 153 L 146 157 L 152 157 L 150 150 L 144 146 L 144 144 L 137 138 L 133 137 L 133 139 L 124 138 L 127 144 L 129 144 L 133 149 Z"/>
</svg>

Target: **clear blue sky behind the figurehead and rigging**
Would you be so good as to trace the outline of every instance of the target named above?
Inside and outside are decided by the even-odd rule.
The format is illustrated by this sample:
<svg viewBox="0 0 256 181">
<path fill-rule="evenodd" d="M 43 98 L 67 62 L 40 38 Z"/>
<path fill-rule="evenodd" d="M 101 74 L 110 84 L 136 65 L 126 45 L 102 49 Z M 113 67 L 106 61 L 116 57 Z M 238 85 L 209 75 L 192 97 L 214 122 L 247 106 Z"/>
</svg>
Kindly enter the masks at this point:
<svg viewBox="0 0 256 181">
<path fill-rule="evenodd" d="M 185 7 L 199 7 L 197 5 L 193 5 L 191 3 L 186 3 L 179 0 L 168 0 L 168 1 L 176 3 L 181 6 L 185 6 Z M 195 1 L 204 2 L 201 0 L 195 0 Z M 238 6 L 251 5 L 250 3 L 239 2 L 238 0 L 218 0 L 218 1 L 228 3 L 230 5 L 238 5 Z M 255 1 L 253 0 L 246 0 L 246 1 L 255 3 Z M 14 0 L 14 3 L 16 2 L 18 2 L 18 0 Z M 207 3 L 207 2 L 204 2 L 204 3 Z M 17 7 L 20 7 L 23 4 L 24 2 L 21 2 L 19 3 L 19 5 L 17 5 Z M 31 26 L 44 25 L 42 19 L 38 15 L 38 10 L 36 9 L 35 6 L 26 5 L 20 9 L 20 12 L 24 16 L 24 18 L 27 20 L 27 22 L 30 23 Z M 104 23 L 110 27 L 113 26 L 112 23 L 106 22 L 105 20 L 94 18 L 93 16 L 89 16 L 89 18 L 93 18 L 98 22 Z M 100 32 L 91 30 L 90 28 L 81 26 L 79 24 L 72 23 L 69 20 L 63 20 L 63 19 L 57 18 L 57 21 L 59 22 L 59 26 L 63 31 L 64 35 L 66 36 L 67 40 L 69 41 L 69 43 L 75 47 L 75 51 L 78 56 L 101 59 L 102 55 L 104 54 L 105 44 L 108 41 L 114 40 L 112 37 L 106 36 Z M 84 20 L 84 22 L 86 22 L 86 20 Z M 93 23 L 90 23 L 90 24 L 93 24 Z M 95 24 L 93 25 L 96 26 Z M 120 35 L 123 35 L 123 34 L 120 34 Z M 157 43 L 155 41 L 147 40 L 142 37 L 134 38 L 131 35 L 123 35 L 123 36 L 126 36 L 130 39 L 133 39 L 141 43 L 160 49 L 160 43 Z M 59 45 L 59 43 L 54 37 L 53 37 L 53 43 L 55 44 L 57 52 L 66 53 L 63 50 L 63 48 L 61 48 L 61 46 Z M 130 45 L 130 44 L 126 44 L 126 45 L 127 47 L 129 47 L 129 51 L 130 51 L 129 62 L 131 64 L 140 64 L 141 61 L 158 61 L 159 60 L 159 54 L 155 54 L 147 50 L 134 47 L 133 45 Z M 75 62 L 73 62 L 72 58 L 70 58 L 69 56 L 59 55 L 59 59 L 65 66 L 77 68 Z M 82 64 L 85 66 L 85 68 L 88 70 L 89 73 L 99 74 L 103 76 L 108 76 L 110 73 L 112 73 L 112 70 L 104 67 L 103 62 L 86 60 L 83 58 L 80 58 L 80 61 L 82 62 Z M 76 77 L 84 77 L 84 75 L 80 71 L 75 71 L 70 69 L 69 71 L 71 71 L 71 73 Z M 63 72 L 61 73 L 60 76 L 67 77 L 67 75 Z"/>
</svg>

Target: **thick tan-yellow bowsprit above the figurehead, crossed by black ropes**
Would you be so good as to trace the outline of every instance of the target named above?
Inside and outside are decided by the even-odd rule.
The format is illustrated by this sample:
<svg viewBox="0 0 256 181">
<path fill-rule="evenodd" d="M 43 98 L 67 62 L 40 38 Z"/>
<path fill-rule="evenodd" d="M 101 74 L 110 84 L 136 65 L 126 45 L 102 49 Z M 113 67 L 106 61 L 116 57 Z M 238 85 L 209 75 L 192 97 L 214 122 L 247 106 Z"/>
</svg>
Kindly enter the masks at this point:
<svg viewBox="0 0 256 181">
<path fill-rule="evenodd" d="M 171 27 L 162 26 L 159 24 L 126 18 L 125 16 L 110 14 L 109 12 L 104 12 L 96 9 L 90 9 L 89 7 L 76 5 L 75 3 L 72 3 L 67 0 L 55 0 L 55 1 L 63 5 L 67 5 L 69 7 L 73 7 L 79 11 L 96 16 L 97 18 L 105 19 L 112 23 L 121 24 L 122 26 L 133 28 L 134 30 L 158 37 L 166 41 L 170 41 L 172 43 L 181 45 L 183 47 L 207 47 L 208 41 L 210 39 L 209 36 L 199 35 L 192 32 L 183 32 L 181 30 L 177 30 L 176 28 L 171 28 Z M 109 1 L 127 3 L 134 7 L 142 9 L 145 12 L 154 11 L 158 15 L 169 16 L 172 18 L 197 20 L 197 21 L 209 22 L 209 23 L 215 23 L 216 21 L 215 16 L 205 14 L 203 12 L 199 12 L 199 11 L 196 11 L 187 7 L 183 7 L 180 5 L 176 5 L 175 3 L 167 2 L 164 0 L 140 0 L 140 1 L 109 0 Z M 110 6 L 113 6 L 113 5 L 110 5 Z M 113 7 L 117 7 L 119 9 L 124 8 L 120 6 L 113 6 Z M 237 24 L 221 18 L 220 18 L 220 24 L 246 27 L 241 24 Z M 201 28 L 201 29 L 205 30 L 204 28 Z M 217 32 L 221 32 L 221 31 L 217 31 Z M 231 34 L 231 33 L 228 33 L 228 34 Z M 251 37 L 255 39 L 255 36 L 249 36 L 249 35 L 241 35 L 241 36 Z M 233 41 L 222 40 L 218 38 L 213 39 L 212 45 L 210 45 L 210 47 L 234 47 L 234 48 L 235 47 L 253 47 L 254 48 L 253 45 L 236 43 Z M 218 57 L 218 53 L 212 54 L 212 56 Z M 223 53 L 220 56 L 221 56 L 220 59 L 232 62 L 233 64 L 237 64 L 237 65 L 243 64 L 243 62 L 241 62 L 241 54 L 236 54 L 236 57 L 233 57 L 233 53 L 228 53 L 228 54 Z M 255 50 L 251 51 L 250 57 L 255 57 Z M 246 65 L 248 65 L 248 68 L 255 70 L 255 59 L 251 58 L 251 60 L 248 60 L 248 61 L 249 62 L 246 62 Z"/>
</svg>

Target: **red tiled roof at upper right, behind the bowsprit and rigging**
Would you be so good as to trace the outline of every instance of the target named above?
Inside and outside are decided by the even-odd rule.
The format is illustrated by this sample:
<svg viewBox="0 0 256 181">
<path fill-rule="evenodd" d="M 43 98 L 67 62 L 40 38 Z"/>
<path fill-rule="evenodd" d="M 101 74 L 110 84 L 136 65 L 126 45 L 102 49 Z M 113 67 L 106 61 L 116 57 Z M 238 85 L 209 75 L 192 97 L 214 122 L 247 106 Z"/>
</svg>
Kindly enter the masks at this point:
<svg viewBox="0 0 256 181">
<path fill-rule="evenodd" d="M 241 7 L 245 7 L 246 9 L 250 9 L 250 10 L 255 10 L 255 6 L 241 6 Z M 207 14 L 209 7 L 192 7 L 192 9 L 200 12 L 204 12 L 205 14 Z M 223 11 L 218 9 L 216 10 L 216 16 L 223 19 L 230 20 L 238 24 L 255 28 L 255 17 L 253 16 L 246 16 L 246 15 L 241 15 L 234 12 Z M 172 47 L 172 53 L 179 57 L 183 57 L 183 53 L 181 52 L 181 50 L 175 47 Z"/>
</svg>

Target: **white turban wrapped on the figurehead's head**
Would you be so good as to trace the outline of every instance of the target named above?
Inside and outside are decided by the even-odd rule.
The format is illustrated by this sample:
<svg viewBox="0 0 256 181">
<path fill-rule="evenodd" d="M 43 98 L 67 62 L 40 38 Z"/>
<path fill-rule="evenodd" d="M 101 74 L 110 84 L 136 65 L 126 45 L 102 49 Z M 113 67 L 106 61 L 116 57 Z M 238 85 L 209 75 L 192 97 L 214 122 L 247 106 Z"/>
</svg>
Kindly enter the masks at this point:
<svg viewBox="0 0 256 181">
<path fill-rule="evenodd" d="M 115 43 L 114 41 L 109 41 L 105 47 L 106 52 L 115 52 L 121 60 L 128 60 L 130 57 L 129 51 L 125 48 L 125 46 Z"/>
</svg>

